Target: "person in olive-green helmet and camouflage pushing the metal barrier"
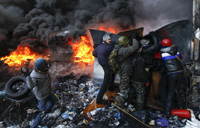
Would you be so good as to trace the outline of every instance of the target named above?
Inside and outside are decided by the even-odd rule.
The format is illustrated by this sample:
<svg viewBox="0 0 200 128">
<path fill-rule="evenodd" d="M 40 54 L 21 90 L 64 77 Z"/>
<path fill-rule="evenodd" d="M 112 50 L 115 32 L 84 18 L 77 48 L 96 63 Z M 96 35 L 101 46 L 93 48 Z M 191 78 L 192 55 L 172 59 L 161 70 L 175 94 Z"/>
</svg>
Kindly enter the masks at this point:
<svg viewBox="0 0 200 128">
<path fill-rule="evenodd" d="M 115 98 L 115 103 L 124 107 L 125 99 L 130 88 L 131 76 L 133 71 L 132 55 L 138 50 L 139 43 L 133 39 L 132 45 L 126 36 L 120 36 L 118 39 L 118 62 L 120 65 L 119 76 L 120 85 L 119 93 Z"/>
</svg>

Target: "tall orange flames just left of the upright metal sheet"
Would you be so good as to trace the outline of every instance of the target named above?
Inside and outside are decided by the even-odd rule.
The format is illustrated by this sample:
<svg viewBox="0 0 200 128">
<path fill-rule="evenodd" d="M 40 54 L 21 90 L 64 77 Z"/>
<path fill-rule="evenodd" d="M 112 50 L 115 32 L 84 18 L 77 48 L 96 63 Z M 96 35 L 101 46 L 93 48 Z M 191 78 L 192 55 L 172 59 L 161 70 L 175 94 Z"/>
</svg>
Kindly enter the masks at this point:
<svg viewBox="0 0 200 128">
<path fill-rule="evenodd" d="M 74 62 L 83 62 L 86 64 L 94 62 L 94 57 L 92 55 L 93 46 L 89 43 L 86 36 L 81 36 L 79 43 L 71 43 L 71 45 L 74 51 Z"/>
</svg>

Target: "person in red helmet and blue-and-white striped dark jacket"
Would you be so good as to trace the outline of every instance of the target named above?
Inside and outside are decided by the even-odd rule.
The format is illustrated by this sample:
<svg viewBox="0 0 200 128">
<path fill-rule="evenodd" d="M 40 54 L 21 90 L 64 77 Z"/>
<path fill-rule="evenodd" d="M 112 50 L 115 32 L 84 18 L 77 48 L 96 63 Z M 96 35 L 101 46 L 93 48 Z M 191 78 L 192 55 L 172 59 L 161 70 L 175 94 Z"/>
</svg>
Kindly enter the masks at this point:
<svg viewBox="0 0 200 128">
<path fill-rule="evenodd" d="M 184 68 L 181 62 L 181 55 L 177 47 L 172 46 L 170 39 L 161 40 L 161 57 L 166 71 L 167 87 L 165 110 L 167 117 L 170 116 L 170 110 L 174 98 L 175 91 L 177 92 L 178 106 L 181 108 L 181 81 L 183 78 Z"/>
</svg>

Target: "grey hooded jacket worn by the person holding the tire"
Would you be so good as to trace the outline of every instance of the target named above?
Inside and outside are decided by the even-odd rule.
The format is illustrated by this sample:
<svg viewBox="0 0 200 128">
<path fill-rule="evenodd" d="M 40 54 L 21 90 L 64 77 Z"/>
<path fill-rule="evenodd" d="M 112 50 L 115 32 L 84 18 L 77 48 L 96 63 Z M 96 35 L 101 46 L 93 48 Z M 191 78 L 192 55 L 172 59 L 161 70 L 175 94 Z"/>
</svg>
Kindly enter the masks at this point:
<svg viewBox="0 0 200 128">
<path fill-rule="evenodd" d="M 51 77 L 48 73 L 42 74 L 33 70 L 30 77 L 27 77 L 27 86 L 33 89 L 33 93 L 38 100 L 43 100 L 51 92 Z"/>
</svg>

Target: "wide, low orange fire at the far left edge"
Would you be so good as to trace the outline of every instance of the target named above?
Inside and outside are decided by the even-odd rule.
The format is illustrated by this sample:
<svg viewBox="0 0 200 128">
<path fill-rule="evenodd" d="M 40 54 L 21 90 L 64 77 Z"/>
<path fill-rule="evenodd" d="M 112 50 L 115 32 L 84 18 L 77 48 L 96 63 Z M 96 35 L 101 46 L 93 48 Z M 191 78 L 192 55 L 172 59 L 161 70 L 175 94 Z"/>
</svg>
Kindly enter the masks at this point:
<svg viewBox="0 0 200 128">
<path fill-rule="evenodd" d="M 0 60 L 4 60 L 4 63 L 8 64 L 8 66 L 18 67 L 25 65 L 27 62 L 33 63 L 37 58 L 41 57 L 42 55 L 32 52 L 28 46 L 19 45 L 9 56 L 2 57 Z M 45 57 L 45 59 L 48 58 Z"/>
</svg>

